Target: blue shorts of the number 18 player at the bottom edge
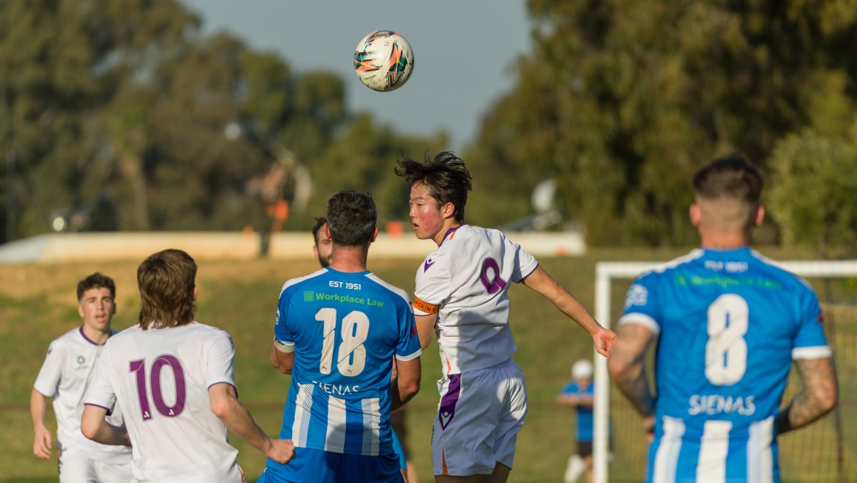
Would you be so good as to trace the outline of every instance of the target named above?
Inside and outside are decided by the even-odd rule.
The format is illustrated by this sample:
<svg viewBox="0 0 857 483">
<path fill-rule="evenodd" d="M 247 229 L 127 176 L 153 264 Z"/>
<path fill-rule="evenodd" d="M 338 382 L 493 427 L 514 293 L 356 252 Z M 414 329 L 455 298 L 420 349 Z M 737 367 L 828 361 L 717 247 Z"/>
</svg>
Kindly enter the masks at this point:
<svg viewBox="0 0 857 483">
<path fill-rule="evenodd" d="M 399 455 L 344 455 L 312 448 L 295 448 L 291 462 L 268 460 L 256 483 L 404 483 Z"/>
</svg>

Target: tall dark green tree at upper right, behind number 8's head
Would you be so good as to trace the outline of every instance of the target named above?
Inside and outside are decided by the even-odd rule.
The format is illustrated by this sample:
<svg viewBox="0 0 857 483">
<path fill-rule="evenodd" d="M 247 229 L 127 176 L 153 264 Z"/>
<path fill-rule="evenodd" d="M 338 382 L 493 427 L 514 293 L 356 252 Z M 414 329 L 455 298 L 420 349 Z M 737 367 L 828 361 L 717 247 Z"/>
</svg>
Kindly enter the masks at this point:
<svg viewBox="0 0 857 483">
<path fill-rule="evenodd" d="M 593 244 L 681 244 L 688 180 L 715 155 L 766 170 L 812 125 L 806 93 L 841 72 L 854 98 L 854 2 L 530 0 L 536 49 L 516 120 Z M 824 76 L 822 76 L 824 77 Z"/>
</svg>

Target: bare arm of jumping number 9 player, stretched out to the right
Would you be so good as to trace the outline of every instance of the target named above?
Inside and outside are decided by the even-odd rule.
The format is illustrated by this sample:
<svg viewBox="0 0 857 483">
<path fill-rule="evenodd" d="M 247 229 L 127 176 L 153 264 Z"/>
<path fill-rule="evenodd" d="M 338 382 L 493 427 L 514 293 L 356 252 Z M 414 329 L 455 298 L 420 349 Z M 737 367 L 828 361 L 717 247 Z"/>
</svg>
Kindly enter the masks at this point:
<svg viewBox="0 0 857 483">
<path fill-rule="evenodd" d="M 602 327 L 571 292 L 548 275 L 547 271 L 544 271 L 542 265 L 537 266 L 536 270 L 524 278 L 523 283 L 553 302 L 561 313 L 565 313 L 567 317 L 577 322 L 584 331 L 589 332 L 598 354 L 605 357 L 610 356 L 616 339 L 614 331 Z"/>
</svg>

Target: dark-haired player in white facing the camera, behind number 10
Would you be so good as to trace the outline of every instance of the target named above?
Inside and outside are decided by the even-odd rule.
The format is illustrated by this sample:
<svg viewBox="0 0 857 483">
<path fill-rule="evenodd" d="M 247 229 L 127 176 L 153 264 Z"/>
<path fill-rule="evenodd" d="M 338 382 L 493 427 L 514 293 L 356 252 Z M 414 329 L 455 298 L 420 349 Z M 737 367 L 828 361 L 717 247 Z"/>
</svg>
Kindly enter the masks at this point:
<svg viewBox="0 0 857 483">
<path fill-rule="evenodd" d="M 53 398 L 57 416 L 59 480 L 63 483 L 105 483 L 131 479 L 131 450 L 94 443 L 81 433 L 83 395 L 105 342 L 116 331 L 116 283 L 98 272 L 77 283 L 77 313 L 83 325 L 66 332 L 48 347 L 45 363 L 33 385 L 30 414 L 33 417 L 33 454 L 51 458 L 51 431 L 45 426 L 47 398 Z M 109 418 L 122 426 L 122 414 Z"/>
</svg>

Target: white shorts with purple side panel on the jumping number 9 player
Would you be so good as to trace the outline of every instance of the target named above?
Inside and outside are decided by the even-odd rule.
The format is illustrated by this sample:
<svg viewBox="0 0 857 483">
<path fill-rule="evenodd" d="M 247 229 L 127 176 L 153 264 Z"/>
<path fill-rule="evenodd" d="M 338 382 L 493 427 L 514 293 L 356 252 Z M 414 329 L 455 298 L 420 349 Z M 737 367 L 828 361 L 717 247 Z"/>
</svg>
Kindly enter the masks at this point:
<svg viewBox="0 0 857 483">
<path fill-rule="evenodd" d="M 497 462 L 512 468 L 515 441 L 527 415 L 524 373 L 511 359 L 494 367 L 448 374 L 437 382 L 434 474 L 491 474 Z"/>
</svg>

